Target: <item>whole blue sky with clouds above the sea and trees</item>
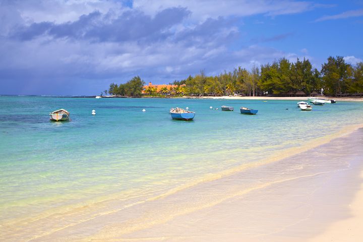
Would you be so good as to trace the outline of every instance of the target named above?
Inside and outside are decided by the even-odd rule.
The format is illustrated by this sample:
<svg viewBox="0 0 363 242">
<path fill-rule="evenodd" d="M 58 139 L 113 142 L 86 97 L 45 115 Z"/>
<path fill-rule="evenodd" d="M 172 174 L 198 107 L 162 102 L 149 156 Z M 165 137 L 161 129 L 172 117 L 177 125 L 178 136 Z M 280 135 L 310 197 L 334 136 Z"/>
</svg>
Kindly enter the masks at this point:
<svg viewBox="0 0 363 242">
<path fill-rule="evenodd" d="M 140 76 L 363 59 L 363 0 L 0 0 L 0 95 L 99 95 Z"/>
</svg>

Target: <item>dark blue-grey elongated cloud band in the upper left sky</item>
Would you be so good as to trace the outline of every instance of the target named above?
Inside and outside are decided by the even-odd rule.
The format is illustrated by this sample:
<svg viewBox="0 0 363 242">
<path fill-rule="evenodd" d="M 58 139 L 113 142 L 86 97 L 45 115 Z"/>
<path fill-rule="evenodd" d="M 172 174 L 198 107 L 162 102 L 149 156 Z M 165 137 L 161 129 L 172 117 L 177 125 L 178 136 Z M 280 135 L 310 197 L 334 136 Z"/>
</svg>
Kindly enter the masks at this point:
<svg viewBox="0 0 363 242">
<path fill-rule="evenodd" d="M 70 38 L 74 40 L 90 39 L 92 41 L 129 41 L 156 40 L 169 35 L 168 28 L 180 23 L 190 12 L 185 8 L 165 9 L 150 17 L 139 11 L 126 11 L 113 18 L 111 14 L 103 15 L 98 11 L 82 15 L 77 21 L 63 24 L 51 22 L 33 23 L 18 28 L 12 37 L 19 40 L 31 40 L 39 36 L 53 38 Z"/>
</svg>

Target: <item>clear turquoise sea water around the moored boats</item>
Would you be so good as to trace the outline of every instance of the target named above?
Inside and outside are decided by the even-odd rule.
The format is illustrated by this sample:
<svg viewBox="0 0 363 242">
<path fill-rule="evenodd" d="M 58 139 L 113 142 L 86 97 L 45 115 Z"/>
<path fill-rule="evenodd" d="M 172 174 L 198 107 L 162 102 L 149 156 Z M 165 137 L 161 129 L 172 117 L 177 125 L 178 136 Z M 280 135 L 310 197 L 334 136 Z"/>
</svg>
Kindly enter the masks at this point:
<svg viewBox="0 0 363 242">
<path fill-rule="evenodd" d="M 0 221 L 157 199 L 203 175 L 363 123 L 363 103 L 300 111 L 296 102 L 0 96 Z M 195 119 L 172 120 L 176 106 L 188 106 Z M 240 106 L 258 115 L 240 114 Z M 59 108 L 71 122 L 49 122 Z"/>
</svg>

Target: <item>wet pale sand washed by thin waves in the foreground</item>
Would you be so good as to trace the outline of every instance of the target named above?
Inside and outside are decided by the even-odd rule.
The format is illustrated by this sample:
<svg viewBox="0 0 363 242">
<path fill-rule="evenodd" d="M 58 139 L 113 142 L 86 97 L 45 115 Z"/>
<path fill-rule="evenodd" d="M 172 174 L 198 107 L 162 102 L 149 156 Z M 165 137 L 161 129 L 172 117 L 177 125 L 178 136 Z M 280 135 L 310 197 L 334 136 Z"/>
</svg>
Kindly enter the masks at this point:
<svg viewBox="0 0 363 242">
<path fill-rule="evenodd" d="M 139 214 L 138 223 L 109 225 L 84 241 L 240 241 L 243 237 L 244 241 L 287 242 L 308 241 L 315 236 L 329 239 L 331 230 L 327 228 L 349 217 L 346 203 L 360 192 L 356 187 L 361 187 L 361 179 L 354 175 L 354 168 L 359 166 L 362 172 L 362 165 L 351 166 L 351 160 L 345 163 L 342 158 L 345 148 L 356 151 L 357 146 L 347 143 L 356 144 L 362 138 L 361 125 L 349 127 L 320 139 L 325 141 L 322 145 L 272 157 L 272 162 L 262 166 L 225 171 L 215 179 L 209 177 L 203 183 L 170 191 L 159 199 L 131 208 L 129 213 Z M 267 176 L 256 180 L 259 173 Z M 336 187 L 331 187 L 330 181 Z M 247 186 L 249 183 L 252 187 Z M 349 183 L 354 186 L 346 187 Z M 145 214 L 152 220 L 144 218 Z M 363 217 L 357 217 L 357 221 L 363 221 Z M 343 228 L 338 231 L 344 235 Z M 344 237 L 334 241 L 356 240 Z"/>
</svg>

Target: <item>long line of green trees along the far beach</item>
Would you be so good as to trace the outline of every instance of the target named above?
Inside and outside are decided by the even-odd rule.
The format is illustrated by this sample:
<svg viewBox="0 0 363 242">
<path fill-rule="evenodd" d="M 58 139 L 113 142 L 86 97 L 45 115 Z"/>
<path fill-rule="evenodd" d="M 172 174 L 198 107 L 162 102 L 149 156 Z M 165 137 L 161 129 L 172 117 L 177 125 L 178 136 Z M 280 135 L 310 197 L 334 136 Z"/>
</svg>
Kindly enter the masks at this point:
<svg viewBox="0 0 363 242">
<path fill-rule="evenodd" d="M 306 95 L 313 92 L 331 96 L 356 93 L 363 95 L 363 63 L 352 66 L 342 56 L 330 56 L 319 72 L 313 68 L 309 59 L 304 58 L 301 61 L 297 58 L 296 62 L 291 63 L 283 57 L 272 64 L 254 66 L 251 71 L 238 67 L 217 76 L 206 76 L 201 71 L 194 77 L 190 75 L 170 84 L 174 87 L 164 87 L 159 91 L 156 87 L 147 87 L 144 90 L 145 82 L 137 76 L 125 84 L 110 84 L 108 93 L 141 96 L 144 90 L 145 95 L 150 96 L 285 96 L 302 92 Z"/>
</svg>

